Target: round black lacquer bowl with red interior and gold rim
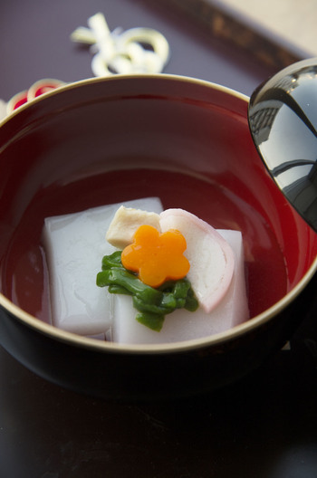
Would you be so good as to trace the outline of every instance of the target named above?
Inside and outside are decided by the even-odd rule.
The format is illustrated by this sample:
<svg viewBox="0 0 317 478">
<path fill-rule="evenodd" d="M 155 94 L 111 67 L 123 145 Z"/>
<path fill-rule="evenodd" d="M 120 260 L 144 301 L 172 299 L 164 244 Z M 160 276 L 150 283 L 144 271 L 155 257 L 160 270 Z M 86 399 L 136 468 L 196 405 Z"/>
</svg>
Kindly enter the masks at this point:
<svg viewBox="0 0 317 478">
<path fill-rule="evenodd" d="M 317 235 L 268 176 L 248 99 L 176 76 L 66 85 L 0 127 L 0 343 L 62 387 L 114 400 L 222 387 L 281 348 L 316 307 Z M 43 219 L 159 196 L 215 227 L 239 229 L 251 320 L 173 345 L 126 346 L 49 323 Z"/>
</svg>

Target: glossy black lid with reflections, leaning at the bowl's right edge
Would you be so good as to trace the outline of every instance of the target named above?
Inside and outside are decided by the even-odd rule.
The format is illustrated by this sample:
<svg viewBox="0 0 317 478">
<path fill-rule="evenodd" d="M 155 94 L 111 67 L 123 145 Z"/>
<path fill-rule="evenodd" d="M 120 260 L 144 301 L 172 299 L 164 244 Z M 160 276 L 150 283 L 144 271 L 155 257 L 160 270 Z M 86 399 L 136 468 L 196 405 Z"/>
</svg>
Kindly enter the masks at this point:
<svg viewBox="0 0 317 478">
<path fill-rule="evenodd" d="M 249 118 L 264 164 L 317 232 L 317 58 L 293 63 L 256 89 Z"/>
</svg>

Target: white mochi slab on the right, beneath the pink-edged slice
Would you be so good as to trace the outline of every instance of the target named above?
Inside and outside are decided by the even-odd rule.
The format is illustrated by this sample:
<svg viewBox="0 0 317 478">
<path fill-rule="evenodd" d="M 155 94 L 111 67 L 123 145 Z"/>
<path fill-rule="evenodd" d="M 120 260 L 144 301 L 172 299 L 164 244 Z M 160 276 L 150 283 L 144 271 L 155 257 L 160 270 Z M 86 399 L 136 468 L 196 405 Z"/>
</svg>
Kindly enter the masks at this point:
<svg viewBox="0 0 317 478">
<path fill-rule="evenodd" d="M 159 344 L 199 339 L 222 332 L 249 318 L 245 292 L 245 262 L 242 234 L 238 231 L 217 230 L 231 245 L 235 254 L 235 271 L 224 299 L 207 313 L 201 307 L 195 312 L 183 309 L 168 314 L 162 330 L 150 330 L 140 324 L 129 296 L 114 296 L 112 339 L 127 344 Z"/>
</svg>

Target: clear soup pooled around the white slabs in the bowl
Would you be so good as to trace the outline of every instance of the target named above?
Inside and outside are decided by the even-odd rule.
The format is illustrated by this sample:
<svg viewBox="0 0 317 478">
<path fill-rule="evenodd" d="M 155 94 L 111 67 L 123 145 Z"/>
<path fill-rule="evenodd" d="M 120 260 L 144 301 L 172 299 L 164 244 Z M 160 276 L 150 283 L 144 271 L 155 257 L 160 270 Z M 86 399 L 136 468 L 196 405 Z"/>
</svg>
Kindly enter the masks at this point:
<svg viewBox="0 0 317 478">
<path fill-rule="evenodd" d="M 255 208 L 207 177 L 132 169 L 49 186 L 34 196 L 16 227 L 6 256 L 2 278 L 5 295 L 24 311 L 50 323 L 50 286 L 41 243 L 44 218 L 149 196 L 158 196 L 164 209 L 180 207 L 217 229 L 242 232 L 251 317 L 287 292 L 283 254 L 272 230 Z"/>
</svg>

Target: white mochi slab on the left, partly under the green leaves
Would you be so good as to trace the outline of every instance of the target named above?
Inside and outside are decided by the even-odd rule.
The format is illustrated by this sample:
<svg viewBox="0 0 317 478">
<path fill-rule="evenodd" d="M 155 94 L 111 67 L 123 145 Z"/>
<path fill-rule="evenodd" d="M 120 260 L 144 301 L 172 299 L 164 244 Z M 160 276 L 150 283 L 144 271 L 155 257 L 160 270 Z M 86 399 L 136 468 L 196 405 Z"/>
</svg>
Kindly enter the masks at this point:
<svg viewBox="0 0 317 478">
<path fill-rule="evenodd" d="M 53 325 L 62 330 L 110 336 L 113 296 L 107 288 L 96 285 L 96 275 L 101 271 L 102 256 L 115 250 L 105 235 L 121 204 L 47 217 L 44 221 Z M 162 211 L 157 197 L 128 201 L 123 206 L 158 214 Z"/>
</svg>

